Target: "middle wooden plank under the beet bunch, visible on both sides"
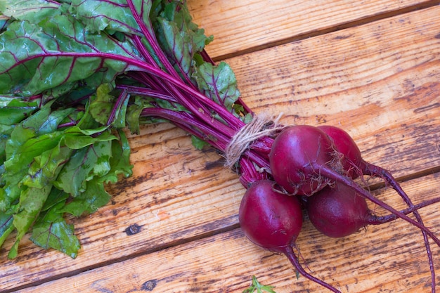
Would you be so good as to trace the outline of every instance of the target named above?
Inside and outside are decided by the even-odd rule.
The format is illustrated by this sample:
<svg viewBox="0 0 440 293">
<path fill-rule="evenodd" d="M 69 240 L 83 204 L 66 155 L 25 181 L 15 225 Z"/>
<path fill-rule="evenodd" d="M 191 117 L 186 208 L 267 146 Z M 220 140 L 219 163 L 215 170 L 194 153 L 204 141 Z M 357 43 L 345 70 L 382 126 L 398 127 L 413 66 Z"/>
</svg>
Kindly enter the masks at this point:
<svg viewBox="0 0 440 293">
<path fill-rule="evenodd" d="M 257 112 L 285 112 L 285 124 L 339 124 L 370 161 L 410 176 L 440 165 L 439 13 L 435 7 L 400 15 L 228 63 L 246 103 Z M 244 189 L 221 167 L 216 152 L 194 150 L 188 136 L 169 124 L 144 127 L 130 143 L 134 176 L 109 187 L 112 204 L 70 219 L 82 242 L 78 258 L 42 252 L 26 238 L 18 259 L 9 261 L 10 238 L 0 250 L 0 290 L 98 268 L 236 225 Z M 141 233 L 128 236 L 124 231 L 135 223 Z M 224 250 L 228 245 L 224 240 Z M 277 270 L 261 268 L 272 269 Z"/>
</svg>

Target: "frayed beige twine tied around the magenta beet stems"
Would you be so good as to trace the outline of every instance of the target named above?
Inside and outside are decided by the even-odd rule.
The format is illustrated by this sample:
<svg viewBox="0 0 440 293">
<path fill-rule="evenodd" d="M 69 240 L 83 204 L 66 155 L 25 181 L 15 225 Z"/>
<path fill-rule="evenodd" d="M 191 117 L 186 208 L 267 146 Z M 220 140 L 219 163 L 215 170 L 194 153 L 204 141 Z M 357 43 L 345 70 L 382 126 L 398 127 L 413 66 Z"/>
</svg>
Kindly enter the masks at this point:
<svg viewBox="0 0 440 293">
<path fill-rule="evenodd" d="M 226 146 L 224 157 L 226 158 L 225 167 L 232 168 L 240 159 L 241 155 L 250 147 L 250 144 L 264 136 L 271 136 L 276 131 L 283 129 L 284 126 L 278 124 L 281 116 L 271 119 L 266 114 L 254 114 L 251 122 L 243 126 L 234 134 L 231 141 Z"/>
</svg>

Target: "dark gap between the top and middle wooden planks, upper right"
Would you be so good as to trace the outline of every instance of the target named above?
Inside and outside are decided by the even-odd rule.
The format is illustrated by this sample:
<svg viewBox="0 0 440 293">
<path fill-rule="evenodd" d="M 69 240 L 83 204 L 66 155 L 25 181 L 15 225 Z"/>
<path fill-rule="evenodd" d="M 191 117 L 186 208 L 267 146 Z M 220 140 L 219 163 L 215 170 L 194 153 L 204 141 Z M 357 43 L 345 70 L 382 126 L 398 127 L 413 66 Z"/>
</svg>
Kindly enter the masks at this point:
<svg viewBox="0 0 440 293">
<path fill-rule="evenodd" d="M 403 15 L 405 13 L 410 13 L 413 11 L 419 11 L 422 9 L 427 9 L 433 6 L 437 6 L 440 5 L 440 0 L 432 0 L 432 1 L 427 1 L 425 3 L 421 3 L 421 4 L 416 4 L 413 6 L 408 6 L 405 8 L 400 8 L 400 9 L 396 9 L 394 11 L 386 11 L 383 13 L 377 13 L 376 15 L 371 15 L 371 16 L 367 16 L 365 18 L 359 18 L 357 20 L 351 20 L 348 22 L 342 22 L 339 25 L 335 25 L 334 27 L 327 27 L 327 28 L 323 28 L 321 30 L 313 30 L 311 32 L 305 32 L 302 34 L 296 34 L 293 37 L 289 37 L 289 38 L 285 38 L 285 39 L 280 39 L 278 41 L 272 41 L 266 44 L 262 44 L 260 46 L 252 46 L 250 48 L 246 48 L 244 50 L 240 50 L 240 51 L 235 51 L 233 53 L 228 53 L 228 54 L 224 54 L 224 55 L 220 55 L 220 56 L 215 56 L 212 59 L 214 60 L 214 62 L 219 62 L 221 60 L 225 60 L 228 58 L 234 58 L 234 57 L 238 57 L 240 55 L 245 55 L 248 53 L 252 53 L 252 52 L 256 52 L 256 51 L 261 51 L 264 50 L 266 48 L 272 48 L 272 47 L 276 47 L 276 46 L 282 46 L 284 44 L 288 44 L 288 43 L 292 43 L 294 41 L 301 41 L 304 39 L 309 39 L 311 37 L 318 37 L 321 36 L 323 34 L 328 34 L 330 32 L 337 32 L 339 30 L 345 30 L 348 29 L 350 27 L 356 27 L 359 25 L 365 25 L 368 24 L 370 22 L 375 22 L 377 20 L 384 20 L 386 18 L 392 18 L 394 16 L 397 15 Z"/>
</svg>

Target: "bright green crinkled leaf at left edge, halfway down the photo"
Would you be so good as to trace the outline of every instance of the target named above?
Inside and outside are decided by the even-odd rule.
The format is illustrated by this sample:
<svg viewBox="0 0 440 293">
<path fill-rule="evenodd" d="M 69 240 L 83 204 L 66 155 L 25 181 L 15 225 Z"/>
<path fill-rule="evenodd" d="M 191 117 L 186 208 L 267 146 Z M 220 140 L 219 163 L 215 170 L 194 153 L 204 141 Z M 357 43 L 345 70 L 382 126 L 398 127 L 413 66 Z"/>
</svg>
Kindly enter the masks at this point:
<svg viewBox="0 0 440 293">
<path fill-rule="evenodd" d="M 69 155 L 60 153 L 63 131 L 55 131 L 71 109 L 51 112 L 48 105 L 17 124 L 5 144 L 4 172 L 1 181 L 0 211 L 10 209 L 26 188 L 23 183 L 41 188 L 58 174 Z"/>
</svg>

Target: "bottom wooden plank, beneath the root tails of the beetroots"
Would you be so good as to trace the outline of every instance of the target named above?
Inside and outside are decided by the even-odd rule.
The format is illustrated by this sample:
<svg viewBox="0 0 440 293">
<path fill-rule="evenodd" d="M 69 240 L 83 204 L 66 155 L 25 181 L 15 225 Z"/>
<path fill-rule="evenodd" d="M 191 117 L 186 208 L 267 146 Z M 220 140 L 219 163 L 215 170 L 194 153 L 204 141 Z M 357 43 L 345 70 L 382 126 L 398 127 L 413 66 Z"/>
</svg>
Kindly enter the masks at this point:
<svg viewBox="0 0 440 293">
<path fill-rule="evenodd" d="M 403 183 L 415 203 L 438 196 L 439 186 L 440 173 Z M 390 190 L 377 194 L 404 207 Z M 437 233 L 439 207 L 437 203 L 420 210 L 427 226 Z M 429 291 L 422 236 L 404 221 L 369 227 L 337 240 L 318 235 L 306 221 L 297 245 L 302 263 L 342 292 Z M 433 246 L 432 252 L 438 254 L 439 247 Z M 277 293 L 325 291 L 303 277 L 297 279 L 284 256 L 260 249 L 235 229 L 48 282 L 33 287 L 32 292 L 242 292 L 253 274 L 275 285 Z"/>
</svg>

